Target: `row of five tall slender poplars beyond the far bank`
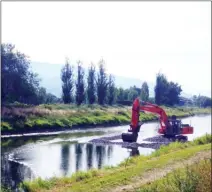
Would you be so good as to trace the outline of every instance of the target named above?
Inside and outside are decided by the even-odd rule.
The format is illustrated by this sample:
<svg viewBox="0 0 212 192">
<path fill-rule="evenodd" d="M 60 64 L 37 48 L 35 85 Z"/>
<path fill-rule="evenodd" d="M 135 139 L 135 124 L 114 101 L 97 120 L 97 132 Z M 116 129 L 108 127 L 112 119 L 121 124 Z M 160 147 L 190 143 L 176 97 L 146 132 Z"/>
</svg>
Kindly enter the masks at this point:
<svg viewBox="0 0 212 192">
<path fill-rule="evenodd" d="M 112 105 L 115 102 L 114 77 L 111 74 L 107 75 L 103 59 L 100 60 L 98 67 L 96 74 L 96 67 L 93 64 L 90 65 L 86 83 L 82 62 L 77 62 L 77 75 L 75 77 L 74 66 L 67 59 L 61 70 L 62 99 L 65 104 L 81 105 L 98 102 L 100 105 L 106 103 Z"/>
</svg>

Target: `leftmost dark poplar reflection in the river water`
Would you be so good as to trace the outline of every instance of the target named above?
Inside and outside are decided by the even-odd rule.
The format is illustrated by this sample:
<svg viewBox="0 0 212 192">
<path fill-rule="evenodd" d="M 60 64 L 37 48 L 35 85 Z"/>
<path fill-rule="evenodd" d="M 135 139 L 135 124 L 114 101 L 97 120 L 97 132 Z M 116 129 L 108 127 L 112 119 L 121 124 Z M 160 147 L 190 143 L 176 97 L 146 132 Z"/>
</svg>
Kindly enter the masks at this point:
<svg viewBox="0 0 212 192">
<path fill-rule="evenodd" d="M 69 169 L 69 144 L 63 144 L 61 146 L 61 169 L 63 175 L 67 175 Z"/>
</svg>

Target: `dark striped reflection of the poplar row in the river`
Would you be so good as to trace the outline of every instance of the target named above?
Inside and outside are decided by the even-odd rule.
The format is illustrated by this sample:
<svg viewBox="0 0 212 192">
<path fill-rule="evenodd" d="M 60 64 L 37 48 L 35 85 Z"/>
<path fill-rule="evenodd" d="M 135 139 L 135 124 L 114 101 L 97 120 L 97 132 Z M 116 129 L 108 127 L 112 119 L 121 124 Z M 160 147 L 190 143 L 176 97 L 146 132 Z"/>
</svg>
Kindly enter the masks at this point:
<svg viewBox="0 0 212 192">
<path fill-rule="evenodd" d="M 61 146 L 61 175 L 67 176 L 76 171 L 101 168 L 110 163 L 112 146 L 88 144 L 64 144 Z"/>
</svg>

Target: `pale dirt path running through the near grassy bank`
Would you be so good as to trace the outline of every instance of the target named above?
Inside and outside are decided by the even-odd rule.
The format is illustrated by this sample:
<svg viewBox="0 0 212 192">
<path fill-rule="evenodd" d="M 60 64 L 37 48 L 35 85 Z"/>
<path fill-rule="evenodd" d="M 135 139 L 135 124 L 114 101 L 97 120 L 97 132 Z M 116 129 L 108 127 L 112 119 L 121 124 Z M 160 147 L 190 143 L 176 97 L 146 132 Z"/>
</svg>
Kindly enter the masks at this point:
<svg viewBox="0 0 212 192">
<path fill-rule="evenodd" d="M 143 175 L 135 177 L 133 182 L 131 182 L 130 184 L 118 186 L 115 189 L 111 189 L 111 192 L 136 191 L 135 189 L 140 187 L 141 185 L 144 185 L 144 184 L 150 183 L 154 180 L 160 179 L 160 178 L 164 177 L 166 174 L 168 174 L 169 172 L 171 172 L 177 168 L 180 168 L 184 165 L 191 165 L 191 164 L 193 164 L 199 160 L 205 159 L 205 158 L 211 158 L 211 150 L 198 152 L 195 156 L 193 156 L 187 160 L 176 162 L 175 164 L 172 164 L 172 165 L 167 165 L 164 168 L 156 168 L 156 169 L 147 171 Z"/>
</svg>

